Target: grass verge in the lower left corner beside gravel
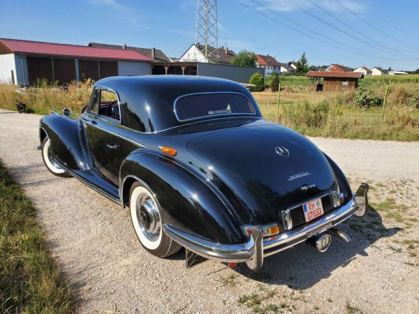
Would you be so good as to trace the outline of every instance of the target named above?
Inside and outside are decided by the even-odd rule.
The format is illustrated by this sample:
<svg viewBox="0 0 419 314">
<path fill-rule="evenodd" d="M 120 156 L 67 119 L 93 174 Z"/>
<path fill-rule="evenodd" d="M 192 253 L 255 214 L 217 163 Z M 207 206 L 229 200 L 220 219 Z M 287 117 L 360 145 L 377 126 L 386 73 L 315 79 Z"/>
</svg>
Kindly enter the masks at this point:
<svg viewBox="0 0 419 314">
<path fill-rule="evenodd" d="M 74 313 L 35 209 L 0 162 L 0 313 Z"/>
</svg>

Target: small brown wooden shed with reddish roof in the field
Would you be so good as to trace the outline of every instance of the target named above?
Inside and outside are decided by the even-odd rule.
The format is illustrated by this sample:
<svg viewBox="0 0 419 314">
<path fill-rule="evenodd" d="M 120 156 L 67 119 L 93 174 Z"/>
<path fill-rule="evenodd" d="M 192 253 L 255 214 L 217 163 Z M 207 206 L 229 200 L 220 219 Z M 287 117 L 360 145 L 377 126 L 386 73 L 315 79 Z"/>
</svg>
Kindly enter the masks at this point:
<svg viewBox="0 0 419 314">
<path fill-rule="evenodd" d="M 310 71 L 306 76 L 311 77 L 314 83 L 320 84 L 318 87 L 323 87 L 322 89 L 317 88 L 317 90 L 337 91 L 357 88 L 358 80 L 364 77 L 364 74 L 362 72 Z"/>
</svg>

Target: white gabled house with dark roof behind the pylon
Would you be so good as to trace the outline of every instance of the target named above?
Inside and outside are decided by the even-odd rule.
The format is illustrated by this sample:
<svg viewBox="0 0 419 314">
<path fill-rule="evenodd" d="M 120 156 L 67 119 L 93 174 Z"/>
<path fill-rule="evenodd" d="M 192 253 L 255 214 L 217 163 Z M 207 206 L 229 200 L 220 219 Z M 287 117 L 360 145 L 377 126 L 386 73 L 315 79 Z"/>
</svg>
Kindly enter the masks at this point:
<svg viewBox="0 0 419 314">
<path fill-rule="evenodd" d="M 205 58 L 205 46 L 193 44 L 184 54 L 182 54 L 179 61 L 209 63 L 215 61 L 218 57 L 219 64 L 230 64 L 231 60 L 235 57 L 235 52 L 233 52 L 233 50 L 228 50 L 227 47 L 215 48 L 209 46 L 208 50 L 214 53 L 209 54 L 207 58 Z"/>
</svg>

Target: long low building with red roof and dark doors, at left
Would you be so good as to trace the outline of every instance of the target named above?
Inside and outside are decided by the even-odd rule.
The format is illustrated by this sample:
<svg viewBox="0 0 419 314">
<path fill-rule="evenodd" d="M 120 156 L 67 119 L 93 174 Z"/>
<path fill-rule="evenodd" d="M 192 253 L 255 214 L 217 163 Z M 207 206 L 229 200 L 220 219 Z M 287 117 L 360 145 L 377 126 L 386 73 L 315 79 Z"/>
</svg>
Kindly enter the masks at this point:
<svg viewBox="0 0 419 314">
<path fill-rule="evenodd" d="M 20 86 L 152 74 L 151 62 L 133 50 L 0 38 L 0 81 Z"/>
</svg>

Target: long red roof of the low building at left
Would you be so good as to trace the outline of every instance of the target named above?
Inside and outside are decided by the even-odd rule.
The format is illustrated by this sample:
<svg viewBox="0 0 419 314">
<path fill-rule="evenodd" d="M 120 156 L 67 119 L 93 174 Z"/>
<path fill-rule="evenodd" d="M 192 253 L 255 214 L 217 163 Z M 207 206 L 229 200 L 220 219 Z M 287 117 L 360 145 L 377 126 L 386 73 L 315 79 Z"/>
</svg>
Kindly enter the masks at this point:
<svg viewBox="0 0 419 314">
<path fill-rule="evenodd" d="M 115 50 L 94 48 L 80 45 L 65 45 L 57 43 L 43 43 L 31 40 L 17 40 L 0 38 L 0 42 L 13 52 L 24 54 L 47 54 L 52 56 L 81 57 L 95 59 L 117 59 L 131 61 L 152 61 L 133 50 Z"/>
</svg>

